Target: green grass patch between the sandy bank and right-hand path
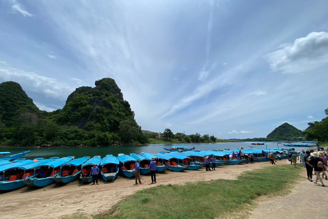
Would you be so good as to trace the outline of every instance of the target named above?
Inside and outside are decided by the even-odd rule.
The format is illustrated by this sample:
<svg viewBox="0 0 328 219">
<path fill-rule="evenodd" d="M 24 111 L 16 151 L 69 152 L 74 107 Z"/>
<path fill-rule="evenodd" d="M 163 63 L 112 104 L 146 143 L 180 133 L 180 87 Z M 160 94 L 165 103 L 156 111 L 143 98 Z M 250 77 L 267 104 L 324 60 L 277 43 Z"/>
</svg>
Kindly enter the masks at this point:
<svg viewBox="0 0 328 219">
<path fill-rule="evenodd" d="M 254 199 L 286 194 L 300 171 L 301 166 L 295 170 L 290 165 L 272 166 L 245 172 L 237 180 L 159 185 L 94 218 L 247 218 Z"/>
</svg>

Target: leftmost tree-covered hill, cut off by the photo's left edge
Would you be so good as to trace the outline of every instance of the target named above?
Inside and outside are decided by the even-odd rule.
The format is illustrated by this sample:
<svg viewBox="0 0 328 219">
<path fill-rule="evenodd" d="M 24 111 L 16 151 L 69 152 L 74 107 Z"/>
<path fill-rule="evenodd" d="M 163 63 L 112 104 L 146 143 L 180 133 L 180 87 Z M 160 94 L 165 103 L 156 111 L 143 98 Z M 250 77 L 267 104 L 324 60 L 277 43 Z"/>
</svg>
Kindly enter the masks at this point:
<svg viewBox="0 0 328 219">
<path fill-rule="evenodd" d="M 23 114 L 40 112 L 19 83 L 0 83 L 0 94 L 0 118 L 6 127 L 19 125 L 22 117 L 26 117 Z"/>
</svg>

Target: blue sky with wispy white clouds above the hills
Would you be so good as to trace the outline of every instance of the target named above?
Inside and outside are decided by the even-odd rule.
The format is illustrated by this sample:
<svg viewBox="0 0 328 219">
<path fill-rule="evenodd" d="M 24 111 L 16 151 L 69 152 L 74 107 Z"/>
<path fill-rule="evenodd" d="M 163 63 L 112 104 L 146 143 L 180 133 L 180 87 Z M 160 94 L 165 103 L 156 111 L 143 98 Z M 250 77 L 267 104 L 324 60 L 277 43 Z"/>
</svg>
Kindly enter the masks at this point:
<svg viewBox="0 0 328 219">
<path fill-rule="evenodd" d="M 111 77 L 144 130 L 266 137 L 328 107 L 328 1 L 0 1 L 0 82 L 40 110 Z"/>
</svg>

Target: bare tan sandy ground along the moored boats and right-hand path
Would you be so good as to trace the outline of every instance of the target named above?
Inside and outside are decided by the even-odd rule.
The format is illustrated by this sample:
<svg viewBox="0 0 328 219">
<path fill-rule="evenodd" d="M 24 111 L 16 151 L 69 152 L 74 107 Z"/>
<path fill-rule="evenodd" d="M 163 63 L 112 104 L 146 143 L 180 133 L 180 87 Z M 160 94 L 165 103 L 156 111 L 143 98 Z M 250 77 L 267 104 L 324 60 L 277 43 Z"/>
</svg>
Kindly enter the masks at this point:
<svg viewBox="0 0 328 219">
<path fill-rule="evenodd" d="M 288 164 L 288 161 L 282 160 L 277 164 Z M 259 162 L 255 164 L 225 165 L 219 166 L 216 171 L 212 172 L 206 172 L 205 168 L 185 170 L 184 172 L 167 170 L 166 173 L 156 175 L 156 184 L 150 184 L 150 176 L 141 176 L 143 185 L 134 185 L 135 179 L 118 177 L 111 183 L 100 181 L 100 185 L 84 185 L 79 181 L 74 181 L 67 185 L 52 184 L 40 189 L 25 187 L 0 194 L 1 218 L 61 218 L 77 213 L 91 216 L 109 210 L 126 196 L 130 196 L 138 190 L 169 183 L 184 184 L 186 182 L 209 181 L 212 179 L 236 179 L 238 175 L 247 170 L 255 170 L 266 166 L 271 166 L 271 164 L 269 162 Z M 292 168 L 291 165 L 290 167 Z M 314 201 L 309 204 L 306 198 L 300 198 L 304 192 L 308 192 L 308 197 L 318 194 L 320 202 L 327 201 L 328 197 L 327 188 L 312 184 L 308 181 L 302 181 L 288 196 L 259 203 L 258 209 L 253 212 L 251 218 L 260 218 L 261 215 L 263 216 L 263 212 L 268 218 L 267 212 L 270 210 L 273 210 L 273 214 L 269 214 L 269 216 L 272 215 L 273 217 L 277 215 L 284 216 L 290 213 L 290 209 L 295 210 L 295 212 L 301 210 L 304 212 L 304 207 L 308 207 L 310 212 L 310 209 L 313 210 L 314 206 L 318 207 L 318 202 Z M 303 218 L 303 216 L 297 218 Z"/>
</svg>

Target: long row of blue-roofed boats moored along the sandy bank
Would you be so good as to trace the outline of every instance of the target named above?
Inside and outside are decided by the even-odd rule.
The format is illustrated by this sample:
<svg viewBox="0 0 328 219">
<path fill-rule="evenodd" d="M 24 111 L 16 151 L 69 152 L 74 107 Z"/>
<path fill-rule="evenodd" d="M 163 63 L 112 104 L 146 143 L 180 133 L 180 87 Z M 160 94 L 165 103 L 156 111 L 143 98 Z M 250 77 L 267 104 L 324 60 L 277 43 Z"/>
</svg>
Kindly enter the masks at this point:
<svg viewBox="0 0 328 219">
<path fill-rule="evenodd" d="M 280 153 L 273 149 L 273 153 Z M 206 157 L 215 157 L 215 166 L 223 164 L 234 165 L 246 161 L 241 159 L 230 159 L 233 151 L 184 151 L 169 153 L 131 153 L 130 155 L 119 154 L 118 157 L 107 155 L 101 159 L 100 156 L 80 157 L 74 156 L 51 157 L 49 159 L 36 158 L 25 160 L 14 160 L 1 163 L 0 159 L 0 190 L 14 190 L 25 185 L 41 188 L 51 183 L 70 183 L 75 179 L 81 179 L 83 183 L 92 182 L 91 168 L 96 164 L 99 166 L 100 175 L 104 181 L 113 181 L 119 172 L 125 177 L 135 176 L 135 162 L 140 160 L 140 173 L 147 175 L 152 158 L 156 161 L 156 172 L 172 170 L 180 172 L 183 170 L 198 170 L 204 166 Z M 272 152 L 271 149 L 267 152 Z M 244 154 L 253 153 L 254 162 L 264 161 L 262 150 L 244 150 Z M 284 157 L 282 157 L 284 158 Z M 210 163 L 210 166 L 214 164 Z"/>
</svg>

